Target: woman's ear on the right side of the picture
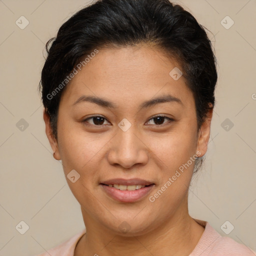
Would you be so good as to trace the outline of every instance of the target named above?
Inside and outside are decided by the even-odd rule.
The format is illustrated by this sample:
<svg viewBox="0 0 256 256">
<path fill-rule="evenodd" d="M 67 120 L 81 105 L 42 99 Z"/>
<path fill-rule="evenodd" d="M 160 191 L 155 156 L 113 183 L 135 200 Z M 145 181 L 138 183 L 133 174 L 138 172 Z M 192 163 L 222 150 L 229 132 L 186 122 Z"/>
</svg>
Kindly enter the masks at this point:
<svg viewBox="0 0 256 256">
<path fill-rule="evenodd" d="M 212 118 L 212 111 L 213 111 L 213 107 L 211 107 L 208 110 L 205 120 L 201 124 L 200 130 L 198 133 L 197 151 L 201 153 L 200 155 L 198 155 L 198 157 L 203 156 L 207 151 L 207 145 L 208 145 L 209 136 L 210 136 L 210 123 Z"/>
</svg>

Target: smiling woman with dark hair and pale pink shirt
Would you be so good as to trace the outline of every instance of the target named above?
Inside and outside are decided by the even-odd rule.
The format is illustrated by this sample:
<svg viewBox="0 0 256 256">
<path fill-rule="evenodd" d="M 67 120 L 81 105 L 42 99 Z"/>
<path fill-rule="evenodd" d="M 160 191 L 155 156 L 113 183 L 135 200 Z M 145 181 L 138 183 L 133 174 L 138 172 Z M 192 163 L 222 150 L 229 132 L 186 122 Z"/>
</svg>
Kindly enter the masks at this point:
<svg viewBox="0 0 256 256">
<path fill-rule="evenodd" d="M 46 48 L 46 135 L 86 231 L 40 255 L 254 255 L 188 214 L 217 80 L 189 12 L 168 0 L 96 1 Z"/>
</svg>

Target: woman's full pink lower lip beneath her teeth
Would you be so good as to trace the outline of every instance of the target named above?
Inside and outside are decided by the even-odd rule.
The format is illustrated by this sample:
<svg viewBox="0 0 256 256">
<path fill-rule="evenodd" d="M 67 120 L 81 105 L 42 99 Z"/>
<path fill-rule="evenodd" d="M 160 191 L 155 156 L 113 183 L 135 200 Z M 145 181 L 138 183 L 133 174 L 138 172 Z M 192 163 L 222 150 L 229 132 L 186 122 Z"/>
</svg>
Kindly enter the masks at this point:
<svg viewBox="0 0 256 256">
<path fill-rule="evenodd" d="M 146 194 L 149 193 L 152 185 L 145 186 L 136 190 L 120 190 L 115 187 L 110 187 L 108 185 L 100 184 L 104 191 L 110 195 L 113 199 L 121 202 L 135 202 L 143 198 Z"/>
</svg>

